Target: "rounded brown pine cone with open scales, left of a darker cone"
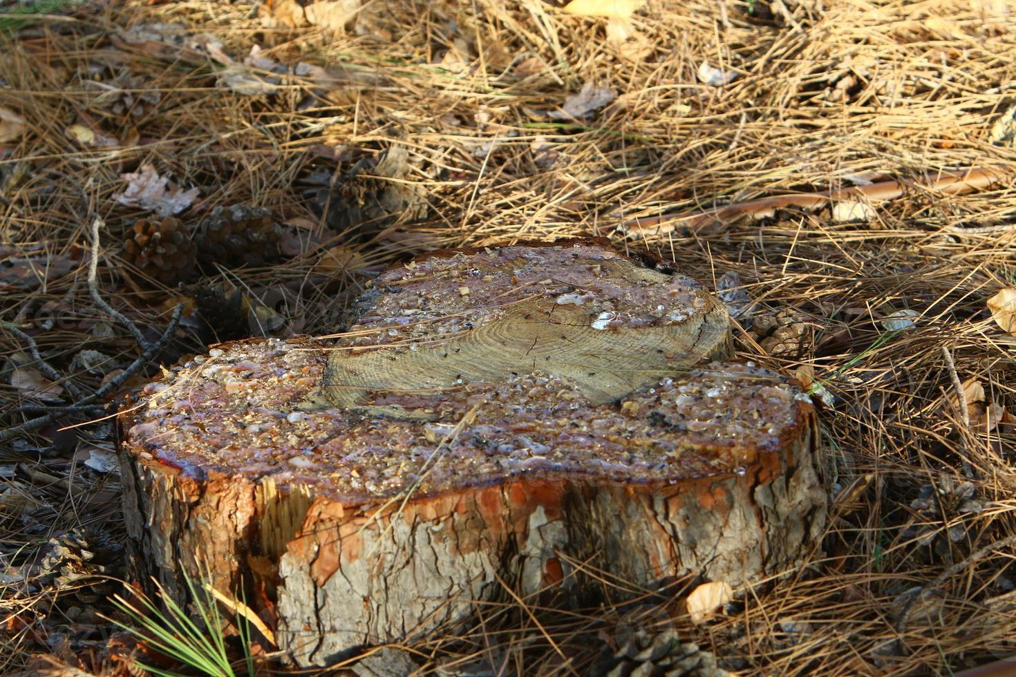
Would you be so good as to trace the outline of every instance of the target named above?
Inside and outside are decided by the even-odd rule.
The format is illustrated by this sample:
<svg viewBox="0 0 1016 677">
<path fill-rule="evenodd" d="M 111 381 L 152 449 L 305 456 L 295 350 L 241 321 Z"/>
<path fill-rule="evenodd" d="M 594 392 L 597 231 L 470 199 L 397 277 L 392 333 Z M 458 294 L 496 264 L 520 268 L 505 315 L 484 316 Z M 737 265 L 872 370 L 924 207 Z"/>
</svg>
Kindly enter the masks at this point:
<svg viewBox="0 0 1016 677">
<path fill-rule="evenodd" d="M 149 278 L 175 286 L 193 274 L 197 248 L 180 219 L 142 218 L 127 231 L 123 257 Z"/>
</svg>

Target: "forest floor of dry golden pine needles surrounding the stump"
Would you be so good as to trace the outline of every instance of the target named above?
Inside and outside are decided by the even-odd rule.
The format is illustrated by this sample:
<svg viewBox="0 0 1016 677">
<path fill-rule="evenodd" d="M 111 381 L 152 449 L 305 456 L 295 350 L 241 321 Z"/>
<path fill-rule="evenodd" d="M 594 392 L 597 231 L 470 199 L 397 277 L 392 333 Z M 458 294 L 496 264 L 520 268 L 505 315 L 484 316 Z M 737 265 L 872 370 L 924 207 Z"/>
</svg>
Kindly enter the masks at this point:
<svg viewBox="0 0 1016 677">
<path fill-rule="evenodd" d="M 1016 339 L 996 318 L 1016 320 L 988 303 L 1016 287 L 1010 3 L 0 10 L 0 671 L 133 669 L 100 615 L 129 572 L 97 419 L 160 363 L 328 333 L 416 253 L 576 234 L 718 288 L 740 356 L 824 399 L 821 547 L 706 623 L 677 591 L 646 628 L 744 675 L 1016 654 Z M 237 205 L 270 216 L 224 234 L 213 210 Z M 523 611 L 404 649 L 421 672 L 585 674 L 627 613 Z"/>
</svg>

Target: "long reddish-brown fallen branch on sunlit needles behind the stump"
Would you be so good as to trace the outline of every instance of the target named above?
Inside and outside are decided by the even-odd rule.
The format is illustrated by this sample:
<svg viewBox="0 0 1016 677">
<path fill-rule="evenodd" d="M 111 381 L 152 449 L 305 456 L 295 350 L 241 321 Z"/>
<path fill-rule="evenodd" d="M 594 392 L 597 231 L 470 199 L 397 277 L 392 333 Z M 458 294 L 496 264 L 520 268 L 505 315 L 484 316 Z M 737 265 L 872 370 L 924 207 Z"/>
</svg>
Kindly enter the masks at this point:
<svg viewBox="0 0 1016 677">
<path fill-rule="evenodd" d="M 681 227 L 698 230 L 716 221 L 735 216 L 749 215 L 755 218 L 772 216 L 777 209 L 787 207 L 816 209 L 838 200 L 865 199 L 871 202 L 894 200 L 908 190 L 937 191 L 946 195 L 957 195 L 1010 183 L 1012 172 L 1012 167 L 1002 165 L 974 167 L 962 172 L 944 173 L 928 181 L 883 181 L 870 186 L 837 188 L 821 193 L 777 195 L 749 202 L 737 202 L 714 209 L 633 218 L 622 222 L 618 226 L 618 230 L 629 236 L 641 235 L 643 238 L 650 234 L 666 234 Z"/>
</svg>

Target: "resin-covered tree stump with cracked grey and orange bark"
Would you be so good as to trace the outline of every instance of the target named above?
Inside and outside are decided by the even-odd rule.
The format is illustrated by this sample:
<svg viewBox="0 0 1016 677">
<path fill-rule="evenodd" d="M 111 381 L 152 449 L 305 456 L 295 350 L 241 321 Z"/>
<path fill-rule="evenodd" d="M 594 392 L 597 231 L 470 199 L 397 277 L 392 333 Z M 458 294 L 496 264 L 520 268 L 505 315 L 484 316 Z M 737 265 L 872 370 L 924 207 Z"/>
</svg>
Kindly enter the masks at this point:
<svg viewBox="0 0 1016 677">
<path fill-rule="evenodd" d="M 228 343 L 120 415 L 135 570 L 272 608 L 302 666 L 475 600 L 737 587 L 826 511 L 815 412 L 731 352 L 701 286 L 604 241 L 446 251 L 380 275 L 337 342 Z"/>
</svg>

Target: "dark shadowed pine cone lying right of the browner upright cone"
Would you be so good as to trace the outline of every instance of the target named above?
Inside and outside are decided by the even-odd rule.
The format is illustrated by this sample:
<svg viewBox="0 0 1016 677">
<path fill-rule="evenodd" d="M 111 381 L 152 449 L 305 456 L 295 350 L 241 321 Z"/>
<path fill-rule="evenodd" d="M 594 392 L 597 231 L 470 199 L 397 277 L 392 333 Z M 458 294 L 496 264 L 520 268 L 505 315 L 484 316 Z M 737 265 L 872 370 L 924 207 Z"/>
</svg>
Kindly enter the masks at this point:
<svg viewBox="0 0 1016 677">
<path fill-rule="evenodd" d="M 212 264 L 263 266 L 278 256 L 278 231 L 270 209 L 233 205 L 215 207 L 197 231 L 200 261 Z"/>
</svg>

